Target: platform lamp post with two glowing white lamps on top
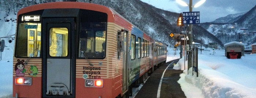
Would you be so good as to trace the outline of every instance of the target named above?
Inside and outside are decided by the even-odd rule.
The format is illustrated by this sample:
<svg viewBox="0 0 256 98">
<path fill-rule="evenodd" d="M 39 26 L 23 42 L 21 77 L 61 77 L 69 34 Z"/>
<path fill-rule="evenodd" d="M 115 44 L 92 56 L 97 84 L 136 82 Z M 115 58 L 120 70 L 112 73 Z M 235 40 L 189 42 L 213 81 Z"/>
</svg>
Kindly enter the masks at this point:
<svg viewBox="0 0 256 98">
<path fill-rule="evenodd" d="M 189 12 L 192 12 L 192 8 L 196 8 L 199 7 L 200 5 L 202 5 L 206 0 L 200 0 L 199 2 L 197 2 L 194 6 L 192 4 L 192 0 L 189 0 L 189 5 L 187 3 L 185 3 L 182 0 L 176 0 L 177 3 L 181 4 L 182 6 L 189 6 Z M 192 26 L 193 24 L 189 24 L 189 34 L 188 34 L 188 38 L 189 38 L 189 46 L 192 46 L 192 42 L 193 42 L 193 34 L 192 34 Z M 192 67 L 192 52 L 189 52 L 189 61 L 188 61 L 188 68 Z"/>
</svg>

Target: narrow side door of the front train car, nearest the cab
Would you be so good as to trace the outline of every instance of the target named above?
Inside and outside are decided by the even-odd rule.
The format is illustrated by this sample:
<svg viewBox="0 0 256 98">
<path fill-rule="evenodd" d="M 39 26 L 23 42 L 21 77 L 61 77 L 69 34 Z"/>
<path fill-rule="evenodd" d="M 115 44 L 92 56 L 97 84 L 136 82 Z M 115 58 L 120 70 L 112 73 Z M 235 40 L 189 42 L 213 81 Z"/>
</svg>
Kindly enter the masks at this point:
<svg viewBox="0 0 256 98">
<path fill-rule="evenodd" d="M 129 37 L 128 31 L 123 31 L 123 93 L 126 93 L 128 91 L 128 52 L 129 52 Z M 127 94 L 126 94 L 127 95 Z"/>
</svg>

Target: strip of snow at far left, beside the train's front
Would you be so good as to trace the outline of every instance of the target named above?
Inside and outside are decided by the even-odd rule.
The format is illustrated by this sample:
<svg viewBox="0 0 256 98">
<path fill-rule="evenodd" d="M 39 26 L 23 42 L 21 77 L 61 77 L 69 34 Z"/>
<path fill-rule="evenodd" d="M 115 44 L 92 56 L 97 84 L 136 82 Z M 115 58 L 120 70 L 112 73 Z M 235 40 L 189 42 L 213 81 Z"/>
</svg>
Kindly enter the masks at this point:
<svg viewBox="0 0 256 98">
<path fill-rule="evenodd" d="M 0 11 L 0 40 L 5 41 L 4 51 L 0 52 L 0 98 L 12 97 L 12 62 L 13 62 L 13 50 L 14 40 L 12 38 L 2 38 L 15 34 L 17 15 L 10 14 L 5 19 L 10 20 L 5 22 L 5 11 Z M 14 36 L 11 36 L 14 37 Z M 9 43 L 9 40 L 12 41 Z"/>
</svg>

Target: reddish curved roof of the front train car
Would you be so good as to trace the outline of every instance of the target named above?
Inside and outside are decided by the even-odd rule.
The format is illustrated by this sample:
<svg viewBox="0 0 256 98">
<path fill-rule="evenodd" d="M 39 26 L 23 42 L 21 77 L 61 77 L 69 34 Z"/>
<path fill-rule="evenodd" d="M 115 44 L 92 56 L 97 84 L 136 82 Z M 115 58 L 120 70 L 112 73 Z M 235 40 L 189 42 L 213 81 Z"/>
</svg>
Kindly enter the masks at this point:
<svg viewBox="0 0 256 98">
<path fill-rule="evenodd" d="M 84 3 L 84 2 L 60 1 L 60 2 L 41 3 L 41 4 L 31 5 L 31 6 L 22 8 L 21 10 L 18 11 L 18 15 L 31 12 L 31 11 L 55 9 L 55 8 L 77 8 L 77 9 L 86 9 L 86 10 L 104 12 L 108 15 L 108 22 L 114 22 L 123 27 L 131 27 L 131 26 L 136 27 L 134 24 L 129 22 L 122 15 L 118 14 L 118 12 L 116 12 L 110 7 L 106 7 L 104 5 L 99 5 L 99 4 L 93 4 L 93 3 Z M 18 19 L 18 15 L 17 15 L 17 19 Z M 127 29 L 131 30 L 131 28 L 127 28 Z"/>
</svg>

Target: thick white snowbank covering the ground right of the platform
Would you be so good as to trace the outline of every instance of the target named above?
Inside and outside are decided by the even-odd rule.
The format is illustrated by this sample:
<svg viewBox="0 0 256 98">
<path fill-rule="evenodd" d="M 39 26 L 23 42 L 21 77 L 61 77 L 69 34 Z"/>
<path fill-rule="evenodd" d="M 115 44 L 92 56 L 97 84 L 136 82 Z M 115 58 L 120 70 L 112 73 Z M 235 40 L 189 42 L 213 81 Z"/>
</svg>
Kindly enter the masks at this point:
<svg viewBox="0 0 256 98">
<path fill-rule="evenodd" d="M 199 76 L 183 71 L 178 83 L 187 98 L 256 98 L 256 54 L 227 59 L 224 50 L 198 54 Z M 211 55 L 210 55 L 211 54 Z M 187 62 L 186 62 L 187 63 Z M 184 69 L 184 59 L 174 69 Z M 187 64 L 186 64 L 187 65 Z"/>
</svg>

